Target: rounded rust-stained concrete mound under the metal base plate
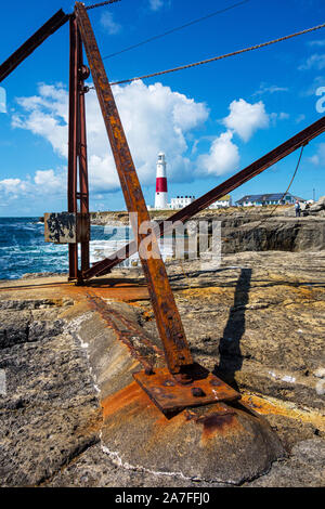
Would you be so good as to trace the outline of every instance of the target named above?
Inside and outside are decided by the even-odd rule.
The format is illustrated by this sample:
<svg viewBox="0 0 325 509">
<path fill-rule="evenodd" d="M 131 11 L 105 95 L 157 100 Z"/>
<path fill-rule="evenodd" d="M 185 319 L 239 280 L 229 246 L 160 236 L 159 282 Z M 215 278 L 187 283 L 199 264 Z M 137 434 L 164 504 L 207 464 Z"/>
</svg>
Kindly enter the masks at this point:
<svg viewBox="0 0 325 509">
<path fill-rule="evenodd" d="M 129 469 L 238 485 L 285 457 L 268 422 L 240 403 L 185 409 L 167 419 L 133 382 L 102 404 L 105 452 Z"/>
</svg>

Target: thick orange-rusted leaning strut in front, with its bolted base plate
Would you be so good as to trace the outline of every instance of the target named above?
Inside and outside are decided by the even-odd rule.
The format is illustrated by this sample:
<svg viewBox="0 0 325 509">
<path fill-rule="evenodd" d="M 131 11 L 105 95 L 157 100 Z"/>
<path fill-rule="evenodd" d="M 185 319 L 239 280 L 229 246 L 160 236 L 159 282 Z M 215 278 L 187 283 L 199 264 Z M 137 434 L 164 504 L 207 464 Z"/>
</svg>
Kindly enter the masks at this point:
<svg viewBox="0 0 325 509">
<path fill-rule="evenodd" d="M 147 238 L 147 234 L 140 233 L 141 225 L 143 223 L 151 224 L 150 214 L 84 5 L 77 2 L 75 13 L 128 211 L 138 214 L 136 222 L 132 222 L 132 227 L 139 245 L 141 245 Z M 206 369 L 194 364 L 157 239 L 155 236 L 151 236 L 150 242 L 154 256 L 147 257 L 141 250 L 139 255 L 147 280 L 168 369 L 154 368 L 141 371 L 133 375 L 135 380 L 162 412 L 216 403 L 220 400 L 239 399 L 240 395 L 236 391 Z"/>
</svg>

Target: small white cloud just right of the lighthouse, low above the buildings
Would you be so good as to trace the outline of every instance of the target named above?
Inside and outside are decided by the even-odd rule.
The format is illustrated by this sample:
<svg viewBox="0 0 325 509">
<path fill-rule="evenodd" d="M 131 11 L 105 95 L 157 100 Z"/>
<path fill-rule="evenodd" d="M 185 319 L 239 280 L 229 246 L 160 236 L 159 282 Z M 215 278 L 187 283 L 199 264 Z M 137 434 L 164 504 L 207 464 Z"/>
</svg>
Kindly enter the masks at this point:
<svg viewBox="0 0 325 509">
<path fill-rule="evenodd" d="M 235 170 L 239 164 L 239 151 L 232 142 L 233 133 L 223 132 L 212 142 L 210 152 L 197 159 L 197 174 L 221 175 Z"/>
</svg>

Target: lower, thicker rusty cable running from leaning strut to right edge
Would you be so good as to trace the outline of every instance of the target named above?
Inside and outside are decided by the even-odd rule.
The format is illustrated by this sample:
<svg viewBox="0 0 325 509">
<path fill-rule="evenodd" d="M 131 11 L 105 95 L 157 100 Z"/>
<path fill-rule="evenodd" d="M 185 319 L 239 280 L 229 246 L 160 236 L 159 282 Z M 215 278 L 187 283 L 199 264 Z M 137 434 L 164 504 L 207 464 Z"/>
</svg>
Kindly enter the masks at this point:
<svg viewBox="0 0 325 509">
<path fill-rule="evenodd" d="M 148 75 L 144 75 L 144 76 L 139 76 L 136 78 L 129 78 L 129 79 L 123 79 L 123 80 L 120 80 L 120 81 L 114 81 L 110 84 L 114 86 L 114 84 L 130 83 L 132 81 L 139 81 L 139 80 L 143 80 L 143 79 L 154 78 L 156 76 L 162 76 L 162 75 L 167 75 L 169 73 L 176 73 L 178 70 L 190 69 L 191 67 L 196 67 L 198 65 L 209 64 L 211 62 L 216 62 L 216 61 L 219 61 L 219 60 L 222 60 L 222 58 L 227 58 L 230 56 L 239 55 L 239 54 L 246 53 L 248 51 L 259 50 L 261 48 L 265 48 L 268 45 L 275 44 L 277 42 L 282 42 L 282 41 L 291 39 L 294 37 L 302 36 L 304 34 L 309 34 L 311 31 L 320 30 L 321 28 L 324 28 L 324 27 L 325 27 L 325 23 L 323 23 L 322 25 L 314 26 L 312 28 L 307 28 L 304 30 L 297 31 L 295 34 L 290 34 L 289 36 L 284 36 L 284 37 L 280 37 L 278 39 L 273 39 L 272 41 L 262 42 L 260 44 L 251 45 L 249 48 L 244 48 L 242 50 L 233 51 L 232 53 L 225 53 L 224 55 L 213 56 L 212 58 L 204 60 L 204 61 L 200 61 L 200 62 L 195 62 L 194 64 L 186 64 L 186 65 L 182 65 L 182 66 L 174 67 L 174 68 L 171 68 L 171 69 L 160 70 L 158 73 L 153 73 L 153 74 L 148 74 Z"/>
</svg>

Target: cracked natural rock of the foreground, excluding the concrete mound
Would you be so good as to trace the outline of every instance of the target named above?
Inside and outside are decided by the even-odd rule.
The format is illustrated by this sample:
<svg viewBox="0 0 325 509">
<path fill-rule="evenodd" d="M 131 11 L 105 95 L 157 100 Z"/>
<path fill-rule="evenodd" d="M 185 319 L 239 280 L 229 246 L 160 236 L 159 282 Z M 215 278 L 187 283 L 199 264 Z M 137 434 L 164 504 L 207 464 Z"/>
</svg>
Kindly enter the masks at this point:
<svg viewBox="0 0 325 509">
<path fill-rule="evenodd" d="M 219 270 L 173 261 L 168 272 L 195 361 L 238 389 L 286 451 L 238 484 L 323 486 L 325 253 L 243 252 L 225 255 Z M 114 270 L 91 288 L 157 341 L 140 269 Z M 132 467 L 107 447 L 105 401 L 127 357 L 84 291 L 62 276 L 0 284 L 1 485 L 227 485 L 185 479 L 173 465 L 164 465 L 169 474 Z"/>
</svg>

